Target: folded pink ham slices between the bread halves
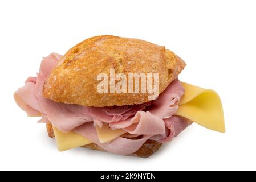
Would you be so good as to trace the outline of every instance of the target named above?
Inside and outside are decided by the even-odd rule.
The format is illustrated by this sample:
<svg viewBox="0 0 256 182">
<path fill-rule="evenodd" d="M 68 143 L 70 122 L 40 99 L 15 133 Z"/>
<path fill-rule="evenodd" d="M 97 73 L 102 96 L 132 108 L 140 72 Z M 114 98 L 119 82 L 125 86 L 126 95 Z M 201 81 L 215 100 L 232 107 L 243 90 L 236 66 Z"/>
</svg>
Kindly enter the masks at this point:
<svg viewBox="0 0 256 182">
<path fill-rule="evenodd" d="M 156 100 L 140 105 L 85 107 L 45 98 L 44 82 L 60 57 L 56 53 L 45 57 L 37 77 L 29 77 L 25 85 L 14 93 L 15 101 L 28 115 L 42 116 L 39 122 L 51 122 L 64 133 L 74 131 L 104 150 L 121 155 L 136 152 L 148 139 L 169 142 L 190 125 L 188 119 L 174 115 L 185 92 L 178 79 Z M 106 125 L 113 131 L 122 130 L 123 135 L 102 142 L 97 130 Z"/>
</svg>

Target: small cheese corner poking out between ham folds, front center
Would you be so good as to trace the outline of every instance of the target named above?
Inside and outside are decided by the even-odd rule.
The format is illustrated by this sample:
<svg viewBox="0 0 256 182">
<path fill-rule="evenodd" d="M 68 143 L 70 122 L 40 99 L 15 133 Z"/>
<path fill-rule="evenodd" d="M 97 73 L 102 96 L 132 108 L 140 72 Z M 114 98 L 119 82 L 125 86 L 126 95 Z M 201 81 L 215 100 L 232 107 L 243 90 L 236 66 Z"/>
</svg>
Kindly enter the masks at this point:
<svg viewBox="0 0 256 182">
<path fill-rule="evenodd" d="M 97 136 L 99 137 L 100 143 L 107 143 L 111 140 L 120 137 L 127 133 L 123 129 L 112 130 L 108 124 L 104 124 L 101 128 L 96 126 Z"/>
</svg>

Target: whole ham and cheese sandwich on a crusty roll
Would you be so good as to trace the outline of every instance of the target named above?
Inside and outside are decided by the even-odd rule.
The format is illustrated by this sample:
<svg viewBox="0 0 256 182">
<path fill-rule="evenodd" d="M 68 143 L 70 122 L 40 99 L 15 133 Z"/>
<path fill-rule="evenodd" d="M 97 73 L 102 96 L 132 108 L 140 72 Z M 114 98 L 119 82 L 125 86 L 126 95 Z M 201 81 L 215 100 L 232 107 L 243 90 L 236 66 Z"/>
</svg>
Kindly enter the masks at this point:
<svg viewBox="0 0 256 182">
<path fill-rule="evenodd" d="M 147 158 L 192 123 L 225 132 L 218 94 L 178 80 L 185 65 L 164 46 L 95 36 L 44 57 L 14 99 L 46 123 L 59 151 Z"/>
</svg>

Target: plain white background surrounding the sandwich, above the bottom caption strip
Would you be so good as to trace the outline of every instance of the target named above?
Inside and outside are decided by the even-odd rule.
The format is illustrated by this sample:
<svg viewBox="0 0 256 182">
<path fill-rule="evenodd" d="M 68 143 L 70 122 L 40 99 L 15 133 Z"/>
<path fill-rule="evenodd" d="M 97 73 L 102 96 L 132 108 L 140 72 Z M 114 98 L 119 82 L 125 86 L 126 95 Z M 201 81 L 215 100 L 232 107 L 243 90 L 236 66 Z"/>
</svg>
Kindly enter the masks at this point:
<svg viewBox="0 0 256 182">
<path fill-rule="evenodd" d="M 255 1 L 1 1 L 0 169 L 256 169 Z M 180 80 L 216 90 L 226 133 L 194 123 L 151 158 L 59 152 L 15 104 L 43 56 L 95 35 L 166 46 L 187 63 Z"/>
</svg>

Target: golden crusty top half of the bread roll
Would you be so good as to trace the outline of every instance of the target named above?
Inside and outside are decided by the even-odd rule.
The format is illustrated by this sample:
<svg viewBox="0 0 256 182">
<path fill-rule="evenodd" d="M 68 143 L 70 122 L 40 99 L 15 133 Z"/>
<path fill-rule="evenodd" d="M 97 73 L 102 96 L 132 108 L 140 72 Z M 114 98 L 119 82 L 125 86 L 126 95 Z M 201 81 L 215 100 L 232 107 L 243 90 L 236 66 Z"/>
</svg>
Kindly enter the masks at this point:
<svg viewBox="0 0 256 182">
<path fill-rule="evenodd" d="M 56 102 L 84 106 L 142 104 L 149 101 L 148 92 L 97 92 L 100 82 L 97 75 L 109 76 L 111 68 L 115 74 L 124 73 L 127 78 L 129 73 L 158 73 L 161 93 L 184 67 L 185 62 L 164 46 L 112 35 L 95 36 L 72 47 L 60 58 L 44 83 L 43 94 Z"/>
</svg>

